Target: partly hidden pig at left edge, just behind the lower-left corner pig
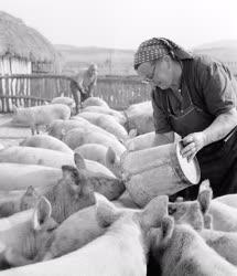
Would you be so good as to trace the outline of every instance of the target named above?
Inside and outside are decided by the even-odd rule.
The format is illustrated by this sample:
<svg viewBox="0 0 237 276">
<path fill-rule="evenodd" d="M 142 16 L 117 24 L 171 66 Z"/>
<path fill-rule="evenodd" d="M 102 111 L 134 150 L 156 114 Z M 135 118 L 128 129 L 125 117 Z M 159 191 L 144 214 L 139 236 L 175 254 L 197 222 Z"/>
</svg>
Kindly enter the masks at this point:
<svg viewBox="0 0 237 276">
<path fill-rule="evenodd" d="M 0 217 L 34 208 L 39 199 L 39 195 L 32 185 L 28 187 L 22 195 L 21 192 L 17 194 L 12 193 L 12 195 L 13 197 L 7 195 L 0 198 Z"/>
</svg>

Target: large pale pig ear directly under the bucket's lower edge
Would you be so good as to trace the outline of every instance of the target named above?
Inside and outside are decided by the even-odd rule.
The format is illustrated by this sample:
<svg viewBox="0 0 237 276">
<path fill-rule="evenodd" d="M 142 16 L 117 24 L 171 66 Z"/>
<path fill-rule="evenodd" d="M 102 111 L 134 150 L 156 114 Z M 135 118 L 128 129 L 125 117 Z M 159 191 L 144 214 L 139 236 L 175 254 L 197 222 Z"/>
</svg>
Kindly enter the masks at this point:
<svg viewBox="0 0 237 276">
<path fill-rule="evenodd" d="M 168 195 L 152 199 L 140 213 L 142 225 L 148 229 L 160 226 L 161 220 L 168 215 Z"/>
</svg>

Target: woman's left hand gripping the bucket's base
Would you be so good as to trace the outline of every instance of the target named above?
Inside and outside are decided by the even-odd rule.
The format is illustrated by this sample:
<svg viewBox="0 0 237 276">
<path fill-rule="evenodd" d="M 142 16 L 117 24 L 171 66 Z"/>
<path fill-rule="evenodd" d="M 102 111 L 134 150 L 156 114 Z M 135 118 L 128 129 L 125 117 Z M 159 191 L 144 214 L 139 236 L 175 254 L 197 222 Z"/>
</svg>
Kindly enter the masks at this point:
<svg viewBox="0 0 237 276">
<path fill-rule="evenodd" d="M 183 139 L 184 148 L 181 150 L 181 155 L 191 161 L 197 151 L 200 151 L 205 146 L 205 135 L 203 131 L 194 132 L 185 136 Z"/>
</svg>

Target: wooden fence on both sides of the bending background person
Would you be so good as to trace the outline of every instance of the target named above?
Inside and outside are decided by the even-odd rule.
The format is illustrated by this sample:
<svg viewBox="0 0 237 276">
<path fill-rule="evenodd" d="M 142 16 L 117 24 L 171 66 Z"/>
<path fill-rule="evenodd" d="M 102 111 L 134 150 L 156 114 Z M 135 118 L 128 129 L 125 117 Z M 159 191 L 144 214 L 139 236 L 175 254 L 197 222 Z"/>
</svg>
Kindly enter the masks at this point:
<svg viewBox="0 0 237 276">
<path fill-rule="evenodd" d="M 73 84 L 73 85 L 72 85 Z M 35 106 L 60 95 L 74 97 L 79 104 L 79 86 L 66 75 L 22 74 L 0 76 L 0 113 L 12 106 Z M 105 99 L 111 108 L 123 109 L 150 98 L 150 86 L 138 78 L 104 76 L 98 78 L 94 96 Z"/>
</svg>

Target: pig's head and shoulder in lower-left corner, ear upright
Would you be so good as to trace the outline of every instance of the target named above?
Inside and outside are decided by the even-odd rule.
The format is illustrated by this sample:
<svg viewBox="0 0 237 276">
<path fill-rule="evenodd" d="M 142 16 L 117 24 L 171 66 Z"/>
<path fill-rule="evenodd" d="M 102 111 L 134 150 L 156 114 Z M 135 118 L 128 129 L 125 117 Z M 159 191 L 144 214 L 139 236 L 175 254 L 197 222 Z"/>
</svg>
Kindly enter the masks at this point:
<svg viewBox="0 0 237 276">
<path fill-rule="evenodd" d="M 0 265 L 32 264 L 52 238 L 57 223 L 51 217 L 51 204 L 41 197 L 36 206 L 0 220 Z"/>
</svg>

